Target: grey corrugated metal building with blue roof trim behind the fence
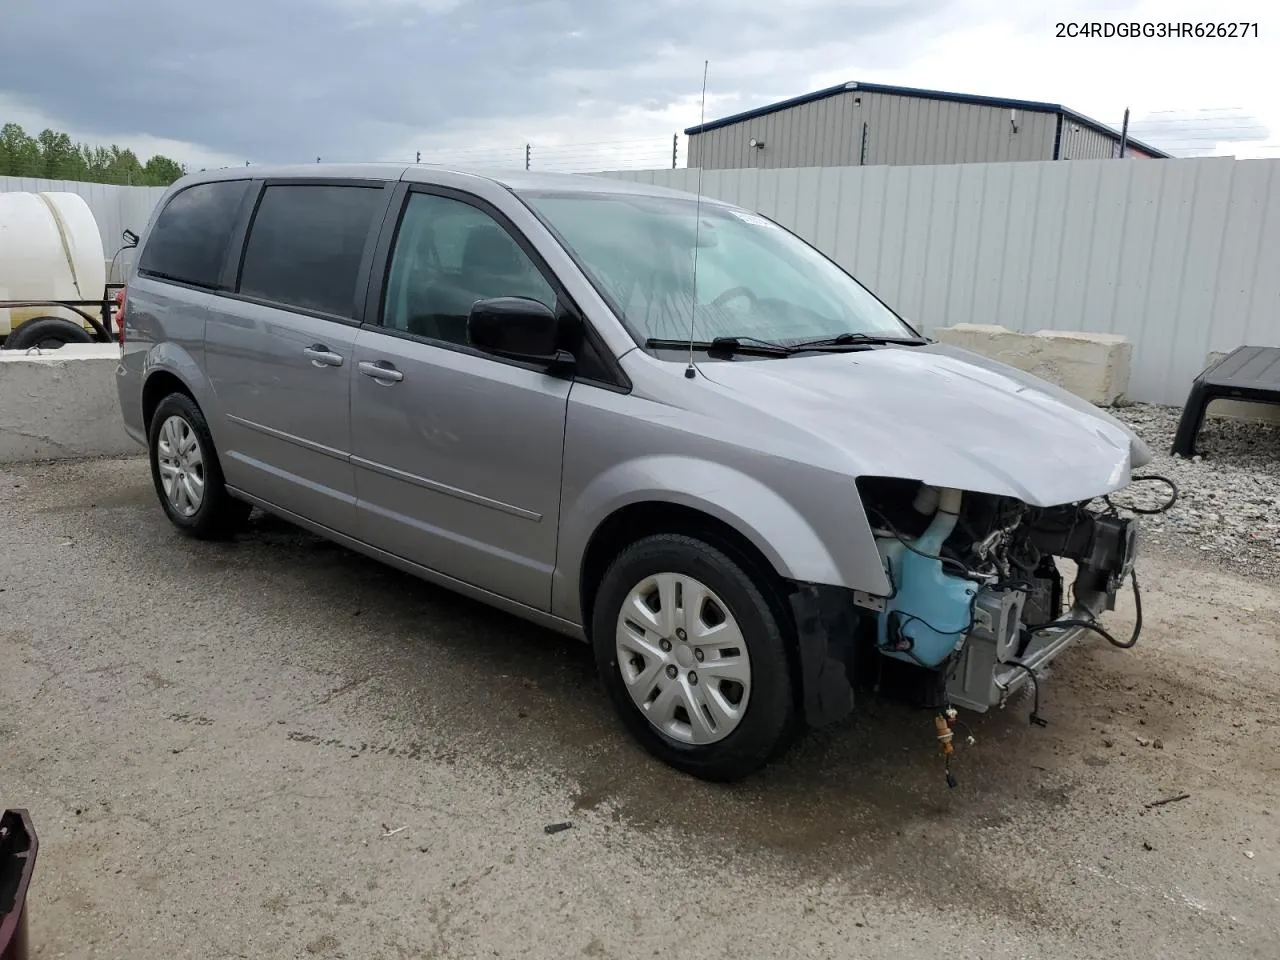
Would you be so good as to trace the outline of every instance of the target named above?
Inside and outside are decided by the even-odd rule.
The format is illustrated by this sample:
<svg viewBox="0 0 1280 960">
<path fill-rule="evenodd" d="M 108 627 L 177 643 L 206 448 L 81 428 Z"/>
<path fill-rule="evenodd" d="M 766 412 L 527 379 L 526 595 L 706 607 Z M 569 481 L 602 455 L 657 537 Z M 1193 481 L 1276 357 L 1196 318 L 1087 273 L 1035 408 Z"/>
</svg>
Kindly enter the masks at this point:
<svg viewBox="0 0 1280 960">
<path fill-rule="evenodd" d="M 689 166 L 707 170 L 1120 155 L 1119 131 L 1060 104 L 841 83 L 685 131 Z M 1125 156 L 1167 157 L 1128 140 Z"/>
</svg>

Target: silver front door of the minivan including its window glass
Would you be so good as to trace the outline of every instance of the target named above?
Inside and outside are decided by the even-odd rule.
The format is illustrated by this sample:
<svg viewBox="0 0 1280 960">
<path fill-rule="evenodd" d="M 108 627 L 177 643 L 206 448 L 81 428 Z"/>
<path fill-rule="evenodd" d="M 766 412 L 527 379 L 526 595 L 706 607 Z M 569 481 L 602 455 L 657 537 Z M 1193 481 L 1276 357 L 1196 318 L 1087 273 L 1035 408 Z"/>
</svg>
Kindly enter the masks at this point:
<svg viewBox="0 0 1280 960">
<path fill-rule="evenodd" d="M 381 324 L 353 351 L 361 539 L 547 611 L 571 381 L 472 349 L 466 317 L 556 291 L 480 201 L 410 192 L 396 237 Z"/>
</svg>

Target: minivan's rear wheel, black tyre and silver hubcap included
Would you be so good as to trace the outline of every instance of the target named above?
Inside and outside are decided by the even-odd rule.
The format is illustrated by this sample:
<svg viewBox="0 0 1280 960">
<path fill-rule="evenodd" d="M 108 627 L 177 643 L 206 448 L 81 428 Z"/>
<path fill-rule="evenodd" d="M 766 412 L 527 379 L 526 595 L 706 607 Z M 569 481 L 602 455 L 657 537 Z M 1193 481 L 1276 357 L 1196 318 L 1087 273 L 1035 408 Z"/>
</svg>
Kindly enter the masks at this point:
<svg viewBox="0 0 1280 960">
<path fill-rule="evenodd" d="M 209 424 L 196 402 L 170 393 L 151 416 L 151 479 L 169 521 L 204 540 L 232 536 L 252 507 L 227 492 Z"/>
</svg>

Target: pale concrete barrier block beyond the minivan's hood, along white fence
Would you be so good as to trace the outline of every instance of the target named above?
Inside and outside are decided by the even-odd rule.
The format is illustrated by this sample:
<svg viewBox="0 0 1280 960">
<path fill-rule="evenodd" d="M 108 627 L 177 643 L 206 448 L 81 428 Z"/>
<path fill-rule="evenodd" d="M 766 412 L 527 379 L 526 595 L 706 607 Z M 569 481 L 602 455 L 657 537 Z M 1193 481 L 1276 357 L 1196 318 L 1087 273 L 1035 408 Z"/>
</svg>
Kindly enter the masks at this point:
<svg viewBox="0 0 1280 960">
<path fill-rule="evenodd" d="M 1019 333 L 991 324 L 956 324 L 933 332 L 942 343 L 980 353 L 1110 407 L 1129 389 L 1133 344 L 1111 333 L 1037 330 Z"/>
</svg>

